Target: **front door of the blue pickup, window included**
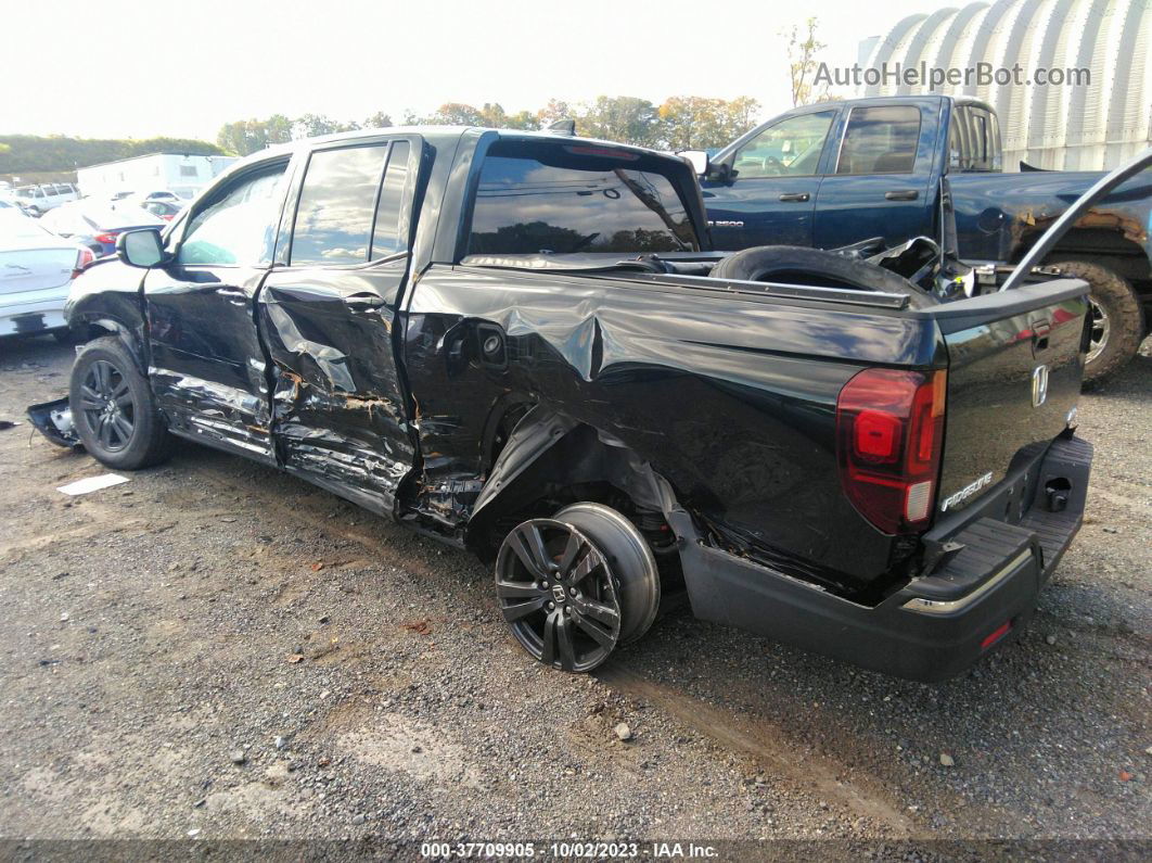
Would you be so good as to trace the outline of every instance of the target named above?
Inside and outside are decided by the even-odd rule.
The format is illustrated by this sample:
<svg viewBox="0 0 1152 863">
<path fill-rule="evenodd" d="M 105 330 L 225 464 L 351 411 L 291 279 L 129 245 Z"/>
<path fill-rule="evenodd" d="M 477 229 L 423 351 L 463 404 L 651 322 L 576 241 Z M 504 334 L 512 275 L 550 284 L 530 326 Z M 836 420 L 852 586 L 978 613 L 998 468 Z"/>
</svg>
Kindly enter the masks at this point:
<svg viewBox="0 0 1152 863">
<path fill-rule="evenodd" d="M 820 156 L 836 111 L 781 120 L 727 157 L 725 180 L 700 183 L 717 249 L 811 245 Z"/>
</svg>

